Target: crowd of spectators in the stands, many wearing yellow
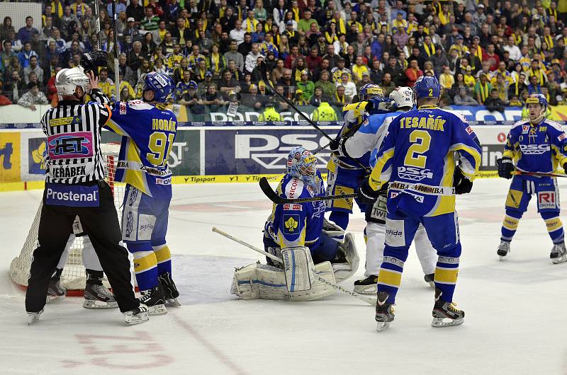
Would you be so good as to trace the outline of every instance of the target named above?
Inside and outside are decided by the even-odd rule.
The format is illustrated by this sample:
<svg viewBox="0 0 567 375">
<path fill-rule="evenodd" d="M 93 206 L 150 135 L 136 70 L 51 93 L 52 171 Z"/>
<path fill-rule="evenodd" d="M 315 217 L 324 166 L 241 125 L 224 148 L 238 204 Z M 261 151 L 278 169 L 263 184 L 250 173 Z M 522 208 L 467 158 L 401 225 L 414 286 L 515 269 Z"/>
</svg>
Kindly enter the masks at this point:
<svg viewBox="0 0 567 375">
<path fill-rule="evenodd" d="M 112 59 L 101 88 L 136 96 L 141 74 L 161 71 L 176 103 L 193 113 L 253 108 L 265 117 L 288 105 L 341 107 L 365 83 L 386 95 L 437 76 L 442 105 L 522 106 L 530 93 L 567 104 L 567 1 L 549 0 L 120 0 L 118 74 Z M 41 20 L 0 26 L 0 104 L 55 100 L 55 74 L 98 48 L 114 54 L 111 4 L 43 2 Z M 259 62 L 268 66 L 262 78 Z M 323 104 L 324 103 L 324 104 Z M 271 115 L 270 115 L 271 114 Z M 329 114 L 330 116 L 330 114 Z"/>
</svg>

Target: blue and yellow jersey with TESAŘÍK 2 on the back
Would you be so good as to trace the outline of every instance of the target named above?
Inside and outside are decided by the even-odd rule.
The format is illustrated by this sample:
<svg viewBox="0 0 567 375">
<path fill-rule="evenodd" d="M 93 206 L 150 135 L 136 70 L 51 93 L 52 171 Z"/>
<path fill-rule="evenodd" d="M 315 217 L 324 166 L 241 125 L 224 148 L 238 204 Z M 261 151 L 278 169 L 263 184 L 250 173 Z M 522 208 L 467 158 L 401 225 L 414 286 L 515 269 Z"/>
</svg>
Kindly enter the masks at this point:
<svg viewBox="0 0 567 375">
<path fill-rule="evenodd" d="M 369 183 L 390 182 L 388 212 L 417 216 L 454 212 L 456 161 L 473 180 L 481 165 L 481 145 L 465 118 L 435 105 L 422 105 L 390 123 L 376 155 Z"/>
</svg>

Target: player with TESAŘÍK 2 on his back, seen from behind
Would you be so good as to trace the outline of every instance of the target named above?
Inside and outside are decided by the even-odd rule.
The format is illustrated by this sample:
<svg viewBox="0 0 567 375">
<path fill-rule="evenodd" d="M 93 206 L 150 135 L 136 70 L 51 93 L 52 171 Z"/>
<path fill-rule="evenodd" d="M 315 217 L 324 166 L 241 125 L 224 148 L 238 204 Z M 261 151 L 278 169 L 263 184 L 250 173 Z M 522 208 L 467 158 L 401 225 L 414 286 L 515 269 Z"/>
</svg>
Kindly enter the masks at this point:
<svg viewBox="0 0 567 375">
<path fill-rule="evenodd" d="M 386 246 L 378 273 L 377 330 L 394 320 L 408 248 L 419 224 L 439 258 L 435 268 L 433 327 L 459 325 L 464 311 L 453 304 L 461 243 L 455 194 L 470 192 L 481 164 L 481 145 L 464 117 L 437 107 L 441 87 L 432 76 L 415 82 L 417 110 L 395 117 L 376 155 L 376 166 L 359 190 L 366 200 L 389 183 Z"/>
</svg>

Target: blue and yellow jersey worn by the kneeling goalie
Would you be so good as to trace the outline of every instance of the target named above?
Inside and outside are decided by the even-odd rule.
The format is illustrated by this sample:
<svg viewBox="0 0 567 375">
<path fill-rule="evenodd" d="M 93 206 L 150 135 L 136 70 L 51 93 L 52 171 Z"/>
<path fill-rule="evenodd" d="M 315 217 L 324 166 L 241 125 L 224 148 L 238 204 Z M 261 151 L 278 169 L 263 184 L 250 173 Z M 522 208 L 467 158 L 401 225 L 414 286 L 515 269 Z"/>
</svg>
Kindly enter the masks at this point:
<svg viewBox="0 0 567 375">
<path fill-rule="evenodd" d="M 325 185 L 318 171 L 319 191 L 299 180 L 285 175 L 277 188 L 278 195 L 285 198 L 320 197 L 325 195 Z M 280 246 L 306 246 L 315 250 L 319 246 L 319 236 L 323 229 L 325 202 L 305 202 L 293 204 L 274 204 L 265 228 L 269 236 Z"/>
</svg>

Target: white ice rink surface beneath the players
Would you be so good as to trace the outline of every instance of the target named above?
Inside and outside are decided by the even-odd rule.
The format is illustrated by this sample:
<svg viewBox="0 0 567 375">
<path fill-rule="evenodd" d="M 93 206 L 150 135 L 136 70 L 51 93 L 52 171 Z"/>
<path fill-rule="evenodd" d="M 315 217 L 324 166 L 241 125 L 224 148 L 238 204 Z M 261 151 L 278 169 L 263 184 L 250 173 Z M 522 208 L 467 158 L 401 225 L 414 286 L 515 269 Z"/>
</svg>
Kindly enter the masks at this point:
<svg viewBox="0 0 567 375">
<path fill-rule="evenodd" d="M 458 198 L 463 255 L 455 299 L 464 325 L 430 327 L 433 290 L 410 250 L 395 321 L 383 333 L 374 308 L 346 294 L 312 302 L 229 294 L 234 267 L 261 255 L 210 228 L 261 247 L 271 204 L 256 184 L 174 185 L 167 239 L 181 308 L 125 326 L 117 310 L 89 311 L 68 297 L 28 327 L 23 292 L 8 270 L 41 192 L 1 193 L 0 374 L 567 374 L 567 263 L 551 264 L 534 202 L 512 252 L 498 260 L 508 183 L 478 180 Z M 349 230 L 361 260 L 363 228 L 355 214 Z M 352 289 L 362 265 L 343 287 Z"/>
</svg>

